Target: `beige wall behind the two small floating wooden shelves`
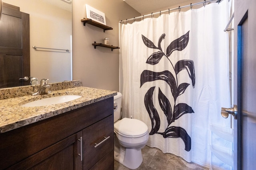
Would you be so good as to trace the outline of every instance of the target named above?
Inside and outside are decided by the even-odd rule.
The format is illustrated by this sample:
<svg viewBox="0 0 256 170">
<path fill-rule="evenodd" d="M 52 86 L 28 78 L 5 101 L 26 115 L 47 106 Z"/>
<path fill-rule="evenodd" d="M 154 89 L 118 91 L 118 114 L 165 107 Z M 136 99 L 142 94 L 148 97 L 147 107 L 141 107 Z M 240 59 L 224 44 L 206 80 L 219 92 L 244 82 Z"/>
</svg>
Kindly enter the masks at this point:
<svg viewBox="0 0 256 170">
<path fill-rule="evenodd" d="M 120 20 L 140 16 L 123 0 L 74 0 L 73 2 L 73 80 L 81 79 L 83 86 L 119 91 L 119 50 L 94 47 L 92 43 L 103 43 L 104 37 L 110 45 L 119 46 Z M 113 28 L 103 29 L 83 25 L 86 17 L 85 4 L 105 13 L 106 24 Z"/>
</svg>

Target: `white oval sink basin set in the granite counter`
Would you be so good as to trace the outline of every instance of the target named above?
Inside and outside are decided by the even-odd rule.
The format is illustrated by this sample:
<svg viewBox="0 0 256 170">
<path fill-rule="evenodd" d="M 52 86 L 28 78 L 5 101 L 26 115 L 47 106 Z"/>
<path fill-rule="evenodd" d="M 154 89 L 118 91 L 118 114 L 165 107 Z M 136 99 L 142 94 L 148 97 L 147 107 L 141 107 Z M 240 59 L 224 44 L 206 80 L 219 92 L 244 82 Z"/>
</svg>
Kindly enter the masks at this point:
<svg viewBox="0 0 256 170">
<path fill-rule="evenodd" d="M 22 107 L 49 106 L 52 104 L 60 104 L 60 103 L 64 103 L 64 102 L 69 102 L 71 100 L 75 100 L 80 97 L 82 97 L 82 96 L 77 96 L 77 95 L 56 96 L 56 97 L 52 97 L 52 98 L 45 98 L 45 99 L 36 100 L 34 102 L 29 102 L 29 103 L 22 105 Z"/>
</svg>

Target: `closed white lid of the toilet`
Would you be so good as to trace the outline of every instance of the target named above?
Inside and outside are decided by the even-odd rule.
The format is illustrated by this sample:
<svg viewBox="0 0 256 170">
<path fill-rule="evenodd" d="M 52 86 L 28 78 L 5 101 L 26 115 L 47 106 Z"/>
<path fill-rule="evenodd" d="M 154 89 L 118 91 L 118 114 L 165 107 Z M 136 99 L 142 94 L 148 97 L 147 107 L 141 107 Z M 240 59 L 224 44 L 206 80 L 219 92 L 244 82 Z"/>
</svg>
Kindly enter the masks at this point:
<svg viewBox="0 0 256 170">
<path fill-rule="evenodd" d="M 148 126 L 144 122 L 129 118 L 123 118 L 114 123 L 114 129 L 118 133 L 127 136 L 139 136 L 148 132 Z"/>
</svg>

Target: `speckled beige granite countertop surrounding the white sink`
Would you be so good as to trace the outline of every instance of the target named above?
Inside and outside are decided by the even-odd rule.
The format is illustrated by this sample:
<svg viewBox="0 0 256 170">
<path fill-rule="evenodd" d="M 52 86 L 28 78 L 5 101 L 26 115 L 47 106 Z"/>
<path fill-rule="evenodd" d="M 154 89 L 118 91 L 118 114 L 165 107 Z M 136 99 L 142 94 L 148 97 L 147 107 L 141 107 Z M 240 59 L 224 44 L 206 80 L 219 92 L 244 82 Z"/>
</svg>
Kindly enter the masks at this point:
<svg viewBox="0 0 256 170">
<path fill-rule="evenodd" d="M 78 99 L 54 104 L 50 106 L 22 107 L 21 105 L 42 98 L 79 95 Z M 50 94 L 39 96 L 22 96 L 0 100 L 0 133 L 4 133 L 40 120 L 77 109 L 88 104 L 104 100 L 116 95 L 116 92 L 109 90 L 100 90 L 88 87 L 74 87 L 63 90 L 52 91 Z"/>
</svg>

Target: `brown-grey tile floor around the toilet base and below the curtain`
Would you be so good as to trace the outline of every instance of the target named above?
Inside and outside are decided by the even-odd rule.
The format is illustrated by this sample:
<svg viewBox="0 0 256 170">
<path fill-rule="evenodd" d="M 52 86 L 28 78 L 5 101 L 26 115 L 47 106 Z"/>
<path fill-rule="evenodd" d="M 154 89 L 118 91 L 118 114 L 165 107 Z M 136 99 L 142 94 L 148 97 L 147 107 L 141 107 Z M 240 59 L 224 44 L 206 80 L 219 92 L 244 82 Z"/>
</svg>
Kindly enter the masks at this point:
<svg viewBox="0 0 256 170">
<path fill-rule="evenodd" d="M 209 170 L 204 166 L 188 163 L 174 154 L 164 154 L 157 148 L 148 146 L 142 149 L 143 162 L 136 170 Z M 116 160 L 114 170 L 130 170 Z"/>
</svg>

